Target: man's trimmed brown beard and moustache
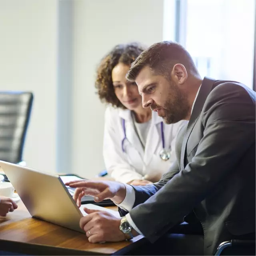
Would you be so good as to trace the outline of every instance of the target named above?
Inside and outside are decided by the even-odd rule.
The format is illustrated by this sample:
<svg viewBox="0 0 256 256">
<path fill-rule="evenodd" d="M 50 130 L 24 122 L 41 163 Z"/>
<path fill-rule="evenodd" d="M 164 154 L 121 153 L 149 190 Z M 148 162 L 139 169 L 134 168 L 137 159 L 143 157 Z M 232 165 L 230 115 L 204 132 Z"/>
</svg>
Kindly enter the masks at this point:
<svg viewBox="0 0 256 256">
<path fill-rule="evenodd" d="M 152 104 L 152 110 L 157 108 L 164 108 L 165 116 L 162 118 L 165 124 L 174 124 L 184 120 L 189 111 L 186 95 L 172 82 L 170 82 L 168 97 L 163 106 Z"/>
</svg>

